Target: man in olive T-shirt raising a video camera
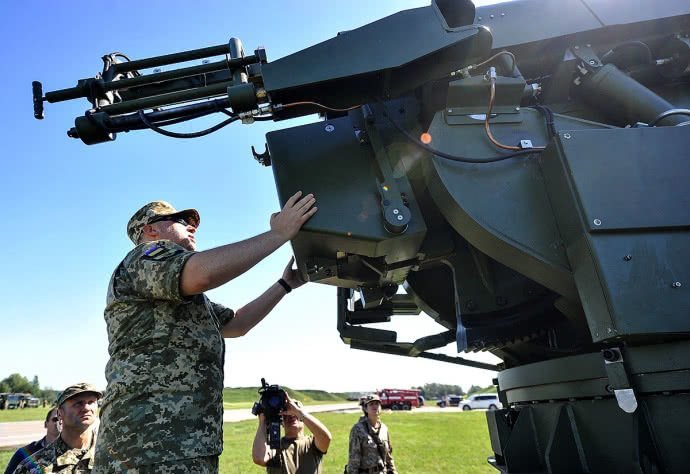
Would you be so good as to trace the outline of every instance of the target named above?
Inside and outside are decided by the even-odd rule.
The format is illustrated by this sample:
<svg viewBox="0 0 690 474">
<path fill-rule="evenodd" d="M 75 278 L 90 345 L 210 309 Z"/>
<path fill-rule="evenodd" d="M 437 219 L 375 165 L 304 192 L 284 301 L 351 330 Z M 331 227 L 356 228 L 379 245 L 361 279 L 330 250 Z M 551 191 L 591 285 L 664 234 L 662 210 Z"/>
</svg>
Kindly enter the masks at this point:
<svg viewBox="0 0 690 474">
<path fill-rule="evenodd" d="M 285 436 L 280 449 L 271 449 L 266 440 L 266 418 L 259 414 L 252 458 L 254 463 L 266 467 L 268 474 L 321 474 L 321 458 L 331 444 L 331 433 L 323 423 L 304 410 L 302 403 L 286 394 L 285 410 L 281 415 Z M 312 432 L 304 436 L 304 425 Z M 276 455 L 279 457 L 276 459 Z"/>
</svg>

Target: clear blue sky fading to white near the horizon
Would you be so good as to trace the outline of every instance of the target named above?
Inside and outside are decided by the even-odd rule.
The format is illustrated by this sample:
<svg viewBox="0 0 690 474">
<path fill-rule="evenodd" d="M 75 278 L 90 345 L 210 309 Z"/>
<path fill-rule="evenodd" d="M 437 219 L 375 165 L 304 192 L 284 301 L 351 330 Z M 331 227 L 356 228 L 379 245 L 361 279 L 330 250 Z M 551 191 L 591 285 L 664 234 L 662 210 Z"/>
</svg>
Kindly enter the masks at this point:
<svg viewBox="0 0 690 474">
<path fill-rule="evenodd" d="M 73 0 L 0 2 L 0 156 L 5 248 L 0 271 L 0 379 L 38 376 L 56 390 L 88 381 L 105 388 L 108 339 L 103 319 L 112 271 L 132 248 L 125 226 L 152 200 L 201 214 L 200 250 L 269 229 L 279 210 L 271 170 L 256 163 L 271 130 L 317 121 L 233 124 L 209 136 L 178 140 L 152 132 L 120 134 L 86 146 L 66 136 L 85 99 L 46 104 L 33 118 L 31 81 L 44 92 L 73 87 L 102 69 L 101 56 L 132 59 L 225 43 L 237 37 L 269 61 L 429 0 L 190 2 Z M 495 2 L 479 2 L 495 3 Z M 103 5 L 99 8 L 99 5 Z M 164 68 L 165 70 L 165 68 Z M 215 123 L 178 126 L 192 132 Z M 318 205 L 318 203 L 317 203 Z M 283 246 L 245 275 L 208 296 L 238 308 L 282 274 Z M 350 349 L 336 329 L 335 287 L 308 284 L 287 295 L 249 334 L 226 340 L 225 386 L 269 383 L 295 389 L 373 391 L 426 383 L 488 386 L 495 373 L 453 364 Z M 405 316 L 386 329 L 412 341 L 444 328 Z M 439 351 L 457 355 L 454 344 Z M 495 363 L 491 354 L 460 354 Z"/>
</svg>

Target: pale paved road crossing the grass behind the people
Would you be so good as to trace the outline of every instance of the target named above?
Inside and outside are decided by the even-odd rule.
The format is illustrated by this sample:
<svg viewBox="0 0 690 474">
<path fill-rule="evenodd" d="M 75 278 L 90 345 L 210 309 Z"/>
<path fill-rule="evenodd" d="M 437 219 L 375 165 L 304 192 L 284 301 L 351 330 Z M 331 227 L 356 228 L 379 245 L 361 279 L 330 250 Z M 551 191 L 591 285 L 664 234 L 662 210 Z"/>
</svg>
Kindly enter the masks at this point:
<svg viewBox="0 0 690 474">
<path fill-rule="evenodd" d="M 340 413 L 359 413 L 359 405 L 355 402 L 350 403 L 334 403 L 328 405 L 308 405 L 307 410 L 310 413 L 322 412 L 340 412 Z M 437 406 L 425 406 L 416 408 L 409 413 L 428 413 L 428 412 L 445 412 L 455 413 L 460 411 L 458 408 L 439 408 Z M 254 419 L 249 408 L 239 408 L 235 410 L 225 410 L 223 413 L 223 421 L 225 423 L 235 423 L 238 421 L 246 421 Z M 42 421 L 16 421 L 8 423 L 0 423 L 0 448 L 18 447 L 29 444 L 32 441 L 41 439 L 45 435 L 45 428 L 43 428 Z"/>
</svg>

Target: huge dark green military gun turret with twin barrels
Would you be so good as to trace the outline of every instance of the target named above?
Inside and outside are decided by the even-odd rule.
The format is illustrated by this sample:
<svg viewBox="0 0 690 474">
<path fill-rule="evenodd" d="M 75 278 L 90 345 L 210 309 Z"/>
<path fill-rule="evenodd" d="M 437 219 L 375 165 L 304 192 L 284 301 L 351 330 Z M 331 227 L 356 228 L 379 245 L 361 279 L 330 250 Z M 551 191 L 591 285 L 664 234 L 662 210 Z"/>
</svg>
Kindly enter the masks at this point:
<svg viewBox="0 0 690 474">
<path fill-rule="evenodd" d="M 281 204 L 319 197 L 292 246 L 305 279 L 338 287 L 345 343 L 498 370 L 501 472 L 680 473 L 689 34 L 687 0 L 433 0 L 277 61 L 236 38 L 114 53 L 76 87 L 35 82 L 34 113 L 88 99 L 68 135 L 89 145 L 319 113 L 253 152 Z M 166 129 L 211 113 L 224 120 Z M 445 330 L 371 327 L 420 312 Z M 502 362 L 434 352 L 452 342 Z"/>
</svg>

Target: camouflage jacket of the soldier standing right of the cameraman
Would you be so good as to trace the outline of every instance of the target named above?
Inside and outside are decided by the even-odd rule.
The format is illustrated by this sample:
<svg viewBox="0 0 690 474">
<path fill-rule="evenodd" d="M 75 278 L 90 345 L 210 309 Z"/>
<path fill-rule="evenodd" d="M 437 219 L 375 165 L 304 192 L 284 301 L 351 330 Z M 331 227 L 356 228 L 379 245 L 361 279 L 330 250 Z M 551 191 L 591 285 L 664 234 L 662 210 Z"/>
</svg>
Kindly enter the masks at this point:
<svg viewBox="0 0 690 474">
<path fill-rule="evenodd" d="M 350 431 L 350 454 L 347 462 L 349 474 L 360 472 L 397 474 L 388 427 L 381 423 L 378 430 L 384 458 L 381 457 L 375 438 L 376 432 L 369 424 L 369 420 L 366 416 L 362 416 Z"/>
</svg>

